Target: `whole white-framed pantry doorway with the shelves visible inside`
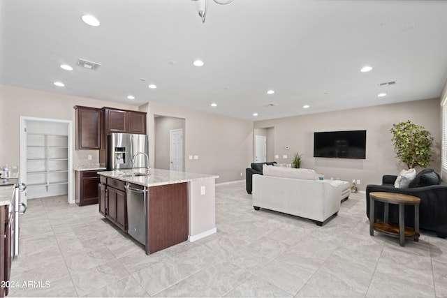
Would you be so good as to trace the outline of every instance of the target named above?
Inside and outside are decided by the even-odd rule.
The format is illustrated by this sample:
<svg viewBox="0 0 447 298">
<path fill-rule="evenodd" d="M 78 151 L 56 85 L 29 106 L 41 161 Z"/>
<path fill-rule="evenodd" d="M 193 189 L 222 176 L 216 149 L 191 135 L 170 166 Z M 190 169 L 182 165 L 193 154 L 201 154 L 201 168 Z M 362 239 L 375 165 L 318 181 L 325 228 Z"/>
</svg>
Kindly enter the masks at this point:
<svg viewBox="0 0 447 298">
<path fill-rule="evenodd" d="M 20 200 L 67 195 L 73 198 L 73 123 L 20 117 Z"/>
</svg>

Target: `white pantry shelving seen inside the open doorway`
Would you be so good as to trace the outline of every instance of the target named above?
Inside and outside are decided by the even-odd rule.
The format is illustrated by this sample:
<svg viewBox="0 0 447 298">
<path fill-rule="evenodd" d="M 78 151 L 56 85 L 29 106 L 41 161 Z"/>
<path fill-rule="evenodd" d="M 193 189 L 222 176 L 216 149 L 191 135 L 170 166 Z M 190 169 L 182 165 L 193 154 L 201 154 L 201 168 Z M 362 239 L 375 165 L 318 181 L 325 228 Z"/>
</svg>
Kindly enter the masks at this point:
<svg viewBox="0 0 447 298">
<path fill-rule="evenodd" d="M 68 193 L 68 136 L 27 133 L 27 198 Z"/>
</svg>

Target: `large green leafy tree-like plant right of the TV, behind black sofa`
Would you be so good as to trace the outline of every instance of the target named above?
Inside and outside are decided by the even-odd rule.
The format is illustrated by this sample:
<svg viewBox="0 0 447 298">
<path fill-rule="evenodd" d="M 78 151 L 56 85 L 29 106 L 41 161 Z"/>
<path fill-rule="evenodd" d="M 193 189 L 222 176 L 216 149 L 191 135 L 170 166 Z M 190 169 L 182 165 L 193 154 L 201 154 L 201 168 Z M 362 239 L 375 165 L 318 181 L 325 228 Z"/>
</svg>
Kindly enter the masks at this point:
<svg viewBox="0 0 447 298">
<path fill-rule="evenodd" d="M 423 126 L 412 124 L 411 121 L 393 124 L 390 129 L 393 135 L 391 139 L 394 144 L 396 157 L 409 169 L 416 167 L 427 167 L 433 161 L 432 144 L 433 137 Z"/>
</svg>

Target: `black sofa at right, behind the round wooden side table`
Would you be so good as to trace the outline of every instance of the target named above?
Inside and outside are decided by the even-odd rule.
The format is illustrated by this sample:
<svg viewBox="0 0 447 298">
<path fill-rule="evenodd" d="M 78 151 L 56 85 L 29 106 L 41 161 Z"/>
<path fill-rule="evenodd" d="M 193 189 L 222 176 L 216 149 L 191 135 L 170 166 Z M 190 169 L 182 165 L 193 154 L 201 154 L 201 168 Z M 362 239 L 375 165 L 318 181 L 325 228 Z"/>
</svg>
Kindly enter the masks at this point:
<svg viewBox="0 0 447 298">
<path fill-rule="evenodd" d="M 369 218 L 369 193 L 384 191 L 387 193 L 404 193 L 420 198 L 419 227 L 437 233 L 438 237 L 447 237 L 447 183 L 432 169 L 422 170 L 416 175 L 409 188 L 395 188 L 397 176 L 384 175 L 382 185 L 369 184 L 366 187 L 366 214 Z M 383 202 L 374 204 L 376 219 L 383 221 Z M 389 205 L 390 223 L 399 223 L 399 208 Z M 414 227 L 414 207 L 405 207 L 405 225 Z"/>
</svg>

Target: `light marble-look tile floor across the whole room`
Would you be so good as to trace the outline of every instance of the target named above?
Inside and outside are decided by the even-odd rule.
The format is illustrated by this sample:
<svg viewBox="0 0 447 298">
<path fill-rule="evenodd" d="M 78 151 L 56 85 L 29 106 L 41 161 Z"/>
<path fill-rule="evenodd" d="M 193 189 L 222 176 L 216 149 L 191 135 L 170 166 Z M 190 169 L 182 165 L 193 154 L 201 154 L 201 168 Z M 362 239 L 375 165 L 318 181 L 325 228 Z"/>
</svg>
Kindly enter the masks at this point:
<svg viewBox="0 0 447 298">
<path fill-rule="evenodd" d="M 364 193 L 323 227 L 254 211 L 244 181 L 216 196 L 217 234 L 149 256 L 97 205 L 29 200 L 10 297 L 447 297 L 447 240 L 369 236 Z"/>
</svg>

